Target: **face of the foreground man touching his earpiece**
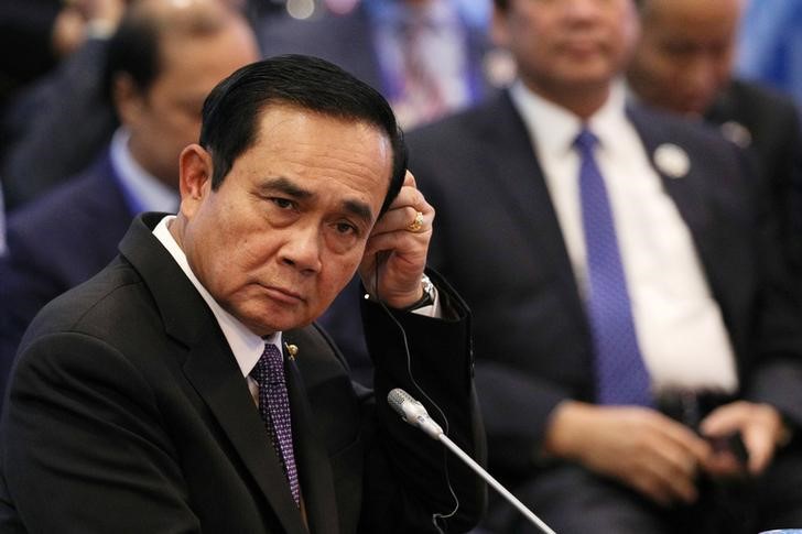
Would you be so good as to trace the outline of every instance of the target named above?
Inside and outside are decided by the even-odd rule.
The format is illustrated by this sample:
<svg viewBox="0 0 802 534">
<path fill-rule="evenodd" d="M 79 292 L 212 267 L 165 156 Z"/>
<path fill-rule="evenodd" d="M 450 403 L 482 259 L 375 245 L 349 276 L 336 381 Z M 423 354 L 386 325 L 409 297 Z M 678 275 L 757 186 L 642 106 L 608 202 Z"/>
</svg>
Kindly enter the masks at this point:
<svg viewBox="0 0 802 534">
<path fill-rule="evenodd" d="M 201 283 L 264 336 L 317 318 L 351 279 L 390 185 L 392 148 L 377 128 L 269 106 L 256 144 L 217 190 L 182 154 L 178 240 Z"/>
</svg>

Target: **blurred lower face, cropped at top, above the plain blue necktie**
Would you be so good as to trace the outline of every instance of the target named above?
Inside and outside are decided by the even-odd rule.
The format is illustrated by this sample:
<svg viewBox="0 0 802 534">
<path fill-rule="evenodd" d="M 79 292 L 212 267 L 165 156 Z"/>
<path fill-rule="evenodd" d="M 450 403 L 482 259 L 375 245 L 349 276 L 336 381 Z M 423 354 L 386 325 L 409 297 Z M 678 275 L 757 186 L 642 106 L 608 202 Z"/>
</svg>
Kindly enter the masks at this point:
<svg viewBox="0 0 802 534">
<path fill-rule="evenodd" d="M 510 0 L 494 31 L 516 58 L 521 79 L 559 101 L 600 89 L 624 67 L 637 33 L 631 0 Z"/>
</svg>

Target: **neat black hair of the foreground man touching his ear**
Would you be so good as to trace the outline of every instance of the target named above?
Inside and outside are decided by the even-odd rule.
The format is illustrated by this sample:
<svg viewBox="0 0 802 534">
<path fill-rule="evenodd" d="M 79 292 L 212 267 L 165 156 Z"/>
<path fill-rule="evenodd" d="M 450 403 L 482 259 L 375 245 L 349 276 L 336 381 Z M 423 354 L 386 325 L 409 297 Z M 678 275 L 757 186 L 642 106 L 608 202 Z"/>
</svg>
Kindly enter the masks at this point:
<svg viewBox="0 0 802 534">
<path fill-rule="evenodd" d="M 390 105 L 376 89 L 336 65 L 304 55 L 277 56 L 241 67 L 206 98 L 199 143 L 214 161 L 213 189 L 220 186 L 235 160 L 257 142 L 259 119 L 271 105 L 361 121 L 382 131 L 393 156 L 380 214 L 387 210 L 407 172 L 403 133 Z"/>
</svg>

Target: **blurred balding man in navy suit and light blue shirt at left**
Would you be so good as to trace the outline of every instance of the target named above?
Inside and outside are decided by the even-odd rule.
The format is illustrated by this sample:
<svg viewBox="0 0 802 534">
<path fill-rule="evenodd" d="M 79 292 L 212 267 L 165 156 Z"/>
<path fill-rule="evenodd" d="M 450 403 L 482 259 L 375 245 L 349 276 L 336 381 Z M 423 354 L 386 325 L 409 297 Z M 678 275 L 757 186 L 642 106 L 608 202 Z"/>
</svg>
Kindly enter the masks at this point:
<svg viewBox="0 0 802 534">
<path fill-rule="evenodd" d="M 108 53 L 108 94 L 122 127 L 95 164 L 9 220 L 9 251 L 0 258 L 0 392 L 36 312 L 106 266 L 134 215 L 176 209 L 175 162 L 197 140 L 204 98 L 259 58 L 250 26 L 217 0 L 142 0 Z"/>
</svg>

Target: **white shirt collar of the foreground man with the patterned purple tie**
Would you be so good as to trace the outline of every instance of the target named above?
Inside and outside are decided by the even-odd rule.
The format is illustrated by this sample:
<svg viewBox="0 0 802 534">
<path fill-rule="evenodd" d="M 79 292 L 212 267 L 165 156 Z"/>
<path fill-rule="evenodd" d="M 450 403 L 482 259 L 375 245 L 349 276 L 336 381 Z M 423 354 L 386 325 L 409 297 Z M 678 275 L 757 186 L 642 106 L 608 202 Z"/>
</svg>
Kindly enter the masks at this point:
<svg viewBox="0 0 802 534">
<path fill-rule="evenodd" d="M 223 309 L 209 292 L 206 291 L 206 287 L 204 287 L 197 280 L 195 273 L 189 268 L 186 254 L 184 254 L 184 251 L 175 241 L 173 235 L 170 233 L 169 226 L 174 219 L 175 216 L 172 215 L 164 217 L 153 229 L 153 236 L 155 236 L 164 248 L 167 249 L 167 252 L 170 252 L 181 270 L 184 271 L 184 274 L 186 274 L 186 277 L 189 279 L 192 285 L 195 286 L 203 299 L 209 306 L 212 313 L 217 319 L 217 324 L 220 325 L 220 329 L 223 330 L 223 335 L 226 337 L 226 341 L 228 341 L 228 346 L 231 347 L 231 352 L 234 352 L 234 357 L 237 359 L 237 364 L 239 366 L 242 375 L 248 377 L 259 361 L 259 358 L 261 358 L 262 352 L 264 352 L 264 344 L 274 345 L 279 349 L 279 352 L 283 353 L 281 350 L 281 333 L 277 331 L 271 336 L 262 338 L 250 331 L 248 327 L 246 327 L 234 315 Z"/>
</svg>

